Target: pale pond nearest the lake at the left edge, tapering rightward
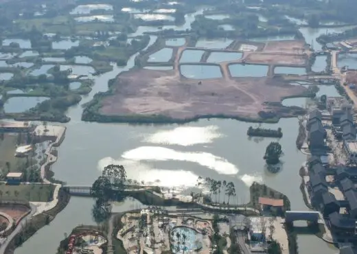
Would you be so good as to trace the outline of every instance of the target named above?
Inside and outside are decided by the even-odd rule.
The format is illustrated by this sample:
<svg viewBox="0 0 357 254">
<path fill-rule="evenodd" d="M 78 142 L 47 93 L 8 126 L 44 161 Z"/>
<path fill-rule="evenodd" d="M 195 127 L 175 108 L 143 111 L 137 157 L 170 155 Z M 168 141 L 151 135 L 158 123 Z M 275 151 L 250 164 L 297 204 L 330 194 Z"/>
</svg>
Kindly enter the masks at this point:
<svg viewBox="0 0 357 254">
<path fill-rule="evenodd" d="M 22 113 L 48 99 L 48 97 L 11 97 L 5 102 L 3 109 L 5 113 Z"/>
</svg>

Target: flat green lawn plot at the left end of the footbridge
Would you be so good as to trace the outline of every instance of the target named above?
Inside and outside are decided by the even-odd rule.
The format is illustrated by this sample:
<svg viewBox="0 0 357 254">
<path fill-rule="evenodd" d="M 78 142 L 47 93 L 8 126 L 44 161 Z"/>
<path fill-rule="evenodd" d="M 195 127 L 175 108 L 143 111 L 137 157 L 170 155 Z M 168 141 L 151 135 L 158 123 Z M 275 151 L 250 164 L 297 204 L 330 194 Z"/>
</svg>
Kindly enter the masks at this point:
<svg viewBox="0 0 357 254">
<path fill-rule="evenodd" d="M 5 185 L 0 184 L 0 199 L 48 202 L 54 193 L 54 185 Z"/>
</svg>

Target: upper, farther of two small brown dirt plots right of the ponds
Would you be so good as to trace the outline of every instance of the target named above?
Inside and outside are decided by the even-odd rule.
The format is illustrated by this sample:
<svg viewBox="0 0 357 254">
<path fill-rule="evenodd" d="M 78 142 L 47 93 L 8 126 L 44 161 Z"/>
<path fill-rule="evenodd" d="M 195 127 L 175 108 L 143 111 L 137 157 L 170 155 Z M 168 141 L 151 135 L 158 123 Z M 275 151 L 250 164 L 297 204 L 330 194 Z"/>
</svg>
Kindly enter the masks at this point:
<svg viewBox="0 0 357 254">
<path fill-rule="evenodd" d="M 263 49 L 264 52 L 286 52 L 303 54 L 305 52 L 305 41 L 268 41 Z"/>
</svg>

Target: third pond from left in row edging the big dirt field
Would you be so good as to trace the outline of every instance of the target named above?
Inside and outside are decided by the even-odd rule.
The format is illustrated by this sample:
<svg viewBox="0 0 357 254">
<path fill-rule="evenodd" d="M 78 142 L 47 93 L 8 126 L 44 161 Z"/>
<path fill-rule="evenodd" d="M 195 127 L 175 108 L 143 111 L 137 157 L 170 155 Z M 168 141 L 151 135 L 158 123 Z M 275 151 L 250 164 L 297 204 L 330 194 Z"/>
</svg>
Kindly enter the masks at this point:
<svg viewBox="0 0 357 254">
<path fill-rule="evenodd" d="M 268 65 L 229 65 L 229 72 L 232 77 L 264 77 L 268 75 Z"/>
</svg>

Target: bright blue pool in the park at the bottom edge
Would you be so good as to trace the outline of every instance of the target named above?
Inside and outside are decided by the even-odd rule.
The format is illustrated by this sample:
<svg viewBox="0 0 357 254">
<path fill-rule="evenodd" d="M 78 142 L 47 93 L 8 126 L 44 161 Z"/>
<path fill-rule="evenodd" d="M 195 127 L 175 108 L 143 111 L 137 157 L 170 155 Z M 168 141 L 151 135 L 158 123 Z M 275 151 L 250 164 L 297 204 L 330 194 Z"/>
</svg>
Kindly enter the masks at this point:
<svg viewBox="0 0 357 254">
<path fill-rule="evenodd" d="M 176 227 L 170 234 L 173 253 L 192 253 L 203 247 L 203 235 L 189 227 Z M 185 235 L 185 240 L 183 235 Z"/>
</svg>

